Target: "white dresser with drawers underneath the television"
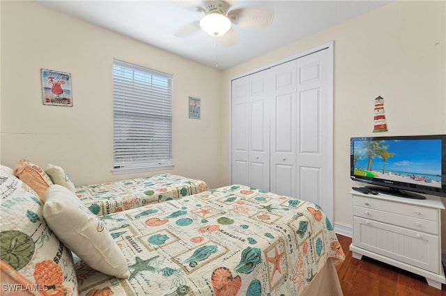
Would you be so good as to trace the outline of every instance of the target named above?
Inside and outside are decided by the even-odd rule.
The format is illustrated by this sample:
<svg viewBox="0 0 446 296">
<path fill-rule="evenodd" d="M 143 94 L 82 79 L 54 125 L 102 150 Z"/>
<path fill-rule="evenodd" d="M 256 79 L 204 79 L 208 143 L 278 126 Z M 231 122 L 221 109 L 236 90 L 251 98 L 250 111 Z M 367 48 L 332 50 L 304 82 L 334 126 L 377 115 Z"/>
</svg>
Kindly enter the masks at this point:
<svg viewBox="0 0 446 296">
<path fill-rule="evenodd" d="M 429 286 L 446 283 L 441 262 L 440 197 L 408 199 L 390 195 L 353 195 L 353 257 L 362 256 L 420 274 Z"/>
</svg>

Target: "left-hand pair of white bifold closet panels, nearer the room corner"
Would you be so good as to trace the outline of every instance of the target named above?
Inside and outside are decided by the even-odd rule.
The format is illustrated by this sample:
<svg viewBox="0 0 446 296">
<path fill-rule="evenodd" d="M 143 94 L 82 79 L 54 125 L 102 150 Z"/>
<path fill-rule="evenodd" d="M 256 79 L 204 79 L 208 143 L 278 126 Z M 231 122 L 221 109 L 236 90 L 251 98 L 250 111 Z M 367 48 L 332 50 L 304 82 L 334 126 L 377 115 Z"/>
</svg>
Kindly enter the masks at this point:
<svg viewBox="0 0 446 296">
<path fill-rule="evenodd" d="M 270 109 L 267 72 L 232 83 L 233 183 L 270 190 Z"/>
</svg>

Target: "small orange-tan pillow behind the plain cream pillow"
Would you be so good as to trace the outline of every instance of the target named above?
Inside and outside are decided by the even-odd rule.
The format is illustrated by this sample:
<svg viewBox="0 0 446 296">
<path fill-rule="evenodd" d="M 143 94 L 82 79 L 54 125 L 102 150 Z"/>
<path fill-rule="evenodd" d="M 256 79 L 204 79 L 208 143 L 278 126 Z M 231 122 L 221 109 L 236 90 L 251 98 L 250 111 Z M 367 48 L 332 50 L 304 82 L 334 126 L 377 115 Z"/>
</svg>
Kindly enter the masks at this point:
<svg viewBox="0 0 446 296">
<path fill-rule="evenodd" d="M 14 170 L 15 176 L 31 187 L 45 201 L 45 191 L 53 182 L 38 165 L 21 159 Z"/>
</svg>

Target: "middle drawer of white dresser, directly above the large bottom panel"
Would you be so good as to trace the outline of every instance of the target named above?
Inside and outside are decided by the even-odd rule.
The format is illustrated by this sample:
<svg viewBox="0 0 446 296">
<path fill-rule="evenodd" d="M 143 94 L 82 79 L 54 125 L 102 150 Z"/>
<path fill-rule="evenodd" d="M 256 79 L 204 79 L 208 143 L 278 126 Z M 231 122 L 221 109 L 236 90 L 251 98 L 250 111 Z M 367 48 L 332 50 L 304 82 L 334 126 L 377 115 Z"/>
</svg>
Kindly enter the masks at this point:
<svg viewBox="0 0 446 296">
<path fill-rule="evenodd" d="M 363 206 L 354 206 L 353 215 L 355 217 L 363 217 L 366 219 L 376 220 L 415 231 L 438 234 L 438 222 L 420 219 L 418 217 L 399 215 L 387 211 L 378 211 L 373 208 L 365 208 Z"/>
</svg>

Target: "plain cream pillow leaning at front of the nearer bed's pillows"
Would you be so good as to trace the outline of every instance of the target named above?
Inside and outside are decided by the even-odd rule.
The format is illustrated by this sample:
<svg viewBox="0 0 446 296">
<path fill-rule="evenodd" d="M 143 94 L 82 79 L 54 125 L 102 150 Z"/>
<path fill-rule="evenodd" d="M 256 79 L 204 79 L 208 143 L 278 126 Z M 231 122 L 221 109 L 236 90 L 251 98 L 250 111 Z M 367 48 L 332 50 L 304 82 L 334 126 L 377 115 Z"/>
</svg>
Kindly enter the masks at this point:
<svg viewBox="0 0 446 296">
<path fill-rule="evenodd" d="M 60 185 L 45 193 L 43 217 L 56 236 L 91 268 L 121 279 L 130 275 L 125 257 L 99 218 Z"/>
</svg>

